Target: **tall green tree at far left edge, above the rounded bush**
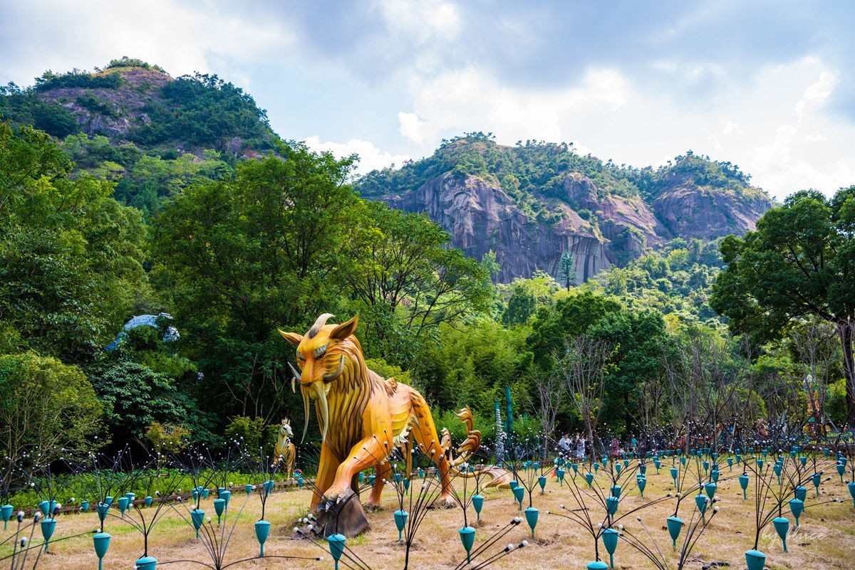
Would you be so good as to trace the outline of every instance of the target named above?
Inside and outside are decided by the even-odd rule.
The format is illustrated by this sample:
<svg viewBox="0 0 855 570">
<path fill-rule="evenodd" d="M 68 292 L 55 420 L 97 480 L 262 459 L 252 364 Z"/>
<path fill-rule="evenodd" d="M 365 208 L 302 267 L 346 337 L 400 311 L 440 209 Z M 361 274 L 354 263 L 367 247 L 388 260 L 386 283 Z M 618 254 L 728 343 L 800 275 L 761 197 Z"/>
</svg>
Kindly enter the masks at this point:
<svg viewBox="0 0 855 570">
<path fill-rule="evenodd" d="M 144 227 L 72 166 L 46 133 L 0 124 L 0 328 L 86 363 L 144 291 Z"/>
</svg>

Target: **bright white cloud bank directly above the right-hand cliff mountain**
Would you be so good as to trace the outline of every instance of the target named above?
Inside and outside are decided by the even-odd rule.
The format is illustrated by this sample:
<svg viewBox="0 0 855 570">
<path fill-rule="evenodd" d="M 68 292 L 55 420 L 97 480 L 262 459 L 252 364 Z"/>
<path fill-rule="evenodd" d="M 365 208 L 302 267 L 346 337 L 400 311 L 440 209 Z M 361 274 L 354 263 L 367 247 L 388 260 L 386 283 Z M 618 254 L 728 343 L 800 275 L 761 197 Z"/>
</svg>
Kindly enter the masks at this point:
<svg viewBox="0 0 855 570">
<path fill-rule="evenodd" d="M 805 58 L 761 70 L 710 108 L 675 106 L 613 69 L 589 70 L 575 87 L 528 91 L 467 68 L 412 79 L 414 113 L 398 118 L 401 134 L 425 152 L 465 131 L 492 131 L 507 144 L 573 141 L 583 153 L 634 166 L 691 149 L 734 162 L 779 198 L 805 188 L 830 195 L 855 183 L 855 126 L 823 107 L 836 84 L 823 61 Z"/>
</svg>

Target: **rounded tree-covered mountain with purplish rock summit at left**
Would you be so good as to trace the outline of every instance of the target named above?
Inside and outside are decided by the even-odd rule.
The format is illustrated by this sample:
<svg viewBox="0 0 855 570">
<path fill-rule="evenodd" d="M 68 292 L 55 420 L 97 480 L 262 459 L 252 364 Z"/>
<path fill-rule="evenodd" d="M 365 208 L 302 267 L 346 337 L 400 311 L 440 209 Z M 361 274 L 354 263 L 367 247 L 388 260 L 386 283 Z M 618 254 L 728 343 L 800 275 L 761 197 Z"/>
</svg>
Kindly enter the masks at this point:
<svg viewBox="0 0 855 570">
<path fill-rule="evenodd" d="M 0 87 L 0 120 L 57 137 L 76 172 L 115 181 L 115 197 L 143 212 L 230 175 L 236 161 L 278 140 L 239 87 L 199 73 L 173 79 L 127 57 L 92 73 L 48 71 L 31 87 Z"/>
</svg>

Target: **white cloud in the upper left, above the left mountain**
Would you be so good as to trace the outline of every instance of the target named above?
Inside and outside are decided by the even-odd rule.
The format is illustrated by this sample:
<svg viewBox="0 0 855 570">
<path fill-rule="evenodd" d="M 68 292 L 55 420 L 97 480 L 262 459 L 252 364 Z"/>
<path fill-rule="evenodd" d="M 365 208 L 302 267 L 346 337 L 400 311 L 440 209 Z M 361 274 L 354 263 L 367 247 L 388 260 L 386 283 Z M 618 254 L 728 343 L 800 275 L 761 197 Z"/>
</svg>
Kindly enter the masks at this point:
<svg viewBox="0 0 855 570">
<path fill-rule="evenodd" d="M 204 9 L 176 0 L 128 0 L 109 7 L 97 0 L 9 4 L 14 5 L 0 19 L 5 20 L 0 32 L 6 45 L 0 79 L 19 84 L 32 84 L 33 69 L 103 66 L 122 55 L 158 64 L 173 75 L 217 73 L 234 82 L 238 71 L 228 74 L 209 62 L 219 57 L 246 65 L 260 53 L 286 52 L 293 41 L 292 33 L 275 21 L 223 15 L 212 3 Z M 36 44 L 32 30 L 38 30 Z M 9 47 L 15 44 L 38 47 L 13 52 Z"/>
</svg>

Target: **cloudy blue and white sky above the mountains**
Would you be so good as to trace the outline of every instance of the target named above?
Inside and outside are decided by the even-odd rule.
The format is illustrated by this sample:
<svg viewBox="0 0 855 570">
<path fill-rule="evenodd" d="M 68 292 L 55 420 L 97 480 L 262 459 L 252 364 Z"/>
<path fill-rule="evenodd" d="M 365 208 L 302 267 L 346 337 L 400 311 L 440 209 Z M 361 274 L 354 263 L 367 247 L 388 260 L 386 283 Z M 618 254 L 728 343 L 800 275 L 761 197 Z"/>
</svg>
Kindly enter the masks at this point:
<svg viewBox="0 0 855 570">
<path fill-rule="evenodd" d="M 781 200 L 855 184 L 855 3 L 787 0 L 0 2 L 0 84 L 127 55 L 215 73 L 280 137 L 360 172 L 443 138 L 692 150 Z"/>
</svg>

